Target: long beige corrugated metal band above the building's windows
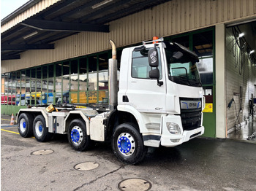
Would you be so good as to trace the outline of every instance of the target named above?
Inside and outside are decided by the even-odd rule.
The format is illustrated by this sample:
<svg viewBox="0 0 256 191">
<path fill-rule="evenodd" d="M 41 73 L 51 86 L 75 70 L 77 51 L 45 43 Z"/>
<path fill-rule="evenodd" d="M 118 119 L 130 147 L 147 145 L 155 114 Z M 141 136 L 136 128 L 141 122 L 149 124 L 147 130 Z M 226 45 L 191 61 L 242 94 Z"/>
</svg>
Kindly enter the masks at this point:
<svg viewBox="0 0 256 191">
<path fill-rule="evenodd" d="M 57 1 L 57 0 L 56 0 Z M 233 20 L 256 18 L 256 0 L 173 0 L 110 23 L 110 33 L 83 32 L 55 42 L 55 50 L 30 50 L 2 61 L 1 73 L 122 47 L 152 36 L 170 36 Z"/>
</svg>

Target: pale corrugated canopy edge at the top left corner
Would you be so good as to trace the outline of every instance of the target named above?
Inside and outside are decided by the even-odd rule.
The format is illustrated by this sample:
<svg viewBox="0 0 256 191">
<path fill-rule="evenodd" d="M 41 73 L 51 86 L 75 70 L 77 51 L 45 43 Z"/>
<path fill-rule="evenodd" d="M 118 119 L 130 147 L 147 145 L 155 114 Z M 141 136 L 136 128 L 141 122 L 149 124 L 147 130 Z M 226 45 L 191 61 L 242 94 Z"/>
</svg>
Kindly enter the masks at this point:
<svg viewBox="0 0 256 191">
<path fill-rule="evenodd" d="M 50 7 L 50 5 L 55 4 L 57 1 L 61 1 L 61 0 L 39 1 L 39 3 L 35 4 L 33 7 L 27 9 L 22 14 L 18 15 L 14 19 L 10 20 L 9 22 L 7 22 L 3 26 L 1 26 L 1 33 L 3 33 L 4 31 L 7 31 L 9 28 L 12 28 L 12 26 L 17 25 L 18 23 L 22 22 L 23 20 L 26 20 L 27 18 L 31 17 L 32 15 L 37 14 L 37 12 L 40 12 L 43 9 L 46 9 L 47 7 Z"/>
</svg>

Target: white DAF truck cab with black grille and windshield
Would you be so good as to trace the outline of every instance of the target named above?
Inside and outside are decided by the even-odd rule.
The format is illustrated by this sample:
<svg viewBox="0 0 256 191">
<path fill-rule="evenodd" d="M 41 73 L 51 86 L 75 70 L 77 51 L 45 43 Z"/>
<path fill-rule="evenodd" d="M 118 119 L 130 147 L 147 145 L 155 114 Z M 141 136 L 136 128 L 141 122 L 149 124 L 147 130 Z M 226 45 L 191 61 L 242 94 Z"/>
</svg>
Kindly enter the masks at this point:
<svg viewBox="0 0 256 191">
<path fill-rule="evenodd" d="M 204 133 L 197 61 L 194 52 L 170 42 L 123 50 L 117 108 L 135 116 L 146 146 L 174 147 Z"/>
</svg>

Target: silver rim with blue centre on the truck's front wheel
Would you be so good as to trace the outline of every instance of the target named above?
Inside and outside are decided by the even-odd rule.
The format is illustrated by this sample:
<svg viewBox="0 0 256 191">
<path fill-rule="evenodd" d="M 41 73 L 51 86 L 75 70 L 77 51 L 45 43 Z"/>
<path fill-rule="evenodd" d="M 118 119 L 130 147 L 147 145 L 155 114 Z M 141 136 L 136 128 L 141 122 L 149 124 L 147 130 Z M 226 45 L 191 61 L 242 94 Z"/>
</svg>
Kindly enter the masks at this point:
<svg viewBox="0 0 256 191">
<path fill-rule="evenodd" d="M 121 133 L 118 136 L 117 146 L 124 156 L 130 156 L 135 152 L 135 140 L 129 133 Z"/>
</svg>

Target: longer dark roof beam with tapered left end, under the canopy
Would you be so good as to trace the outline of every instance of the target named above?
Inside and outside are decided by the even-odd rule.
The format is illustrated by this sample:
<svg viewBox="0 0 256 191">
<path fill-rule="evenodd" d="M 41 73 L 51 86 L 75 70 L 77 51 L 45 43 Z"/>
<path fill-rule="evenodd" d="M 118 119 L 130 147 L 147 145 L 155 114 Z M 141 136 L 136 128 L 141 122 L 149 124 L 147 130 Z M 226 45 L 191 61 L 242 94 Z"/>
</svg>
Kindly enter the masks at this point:
<svg viewBox="0 0 256 191">
<path fill-rule="evenodd" d="M 94 31 L 94 32 L 109 32 L 108 25 L 93 25 L 85 23 L 67 23 L 53 20 L 37 20 L 28 19 L 24 20 L 23 26 L 29 26 L 41 31 L 68 31 L 68 32 L 82 32 L 82 31 Z"/>
</svg>

